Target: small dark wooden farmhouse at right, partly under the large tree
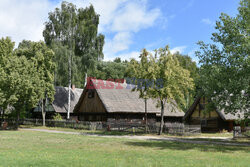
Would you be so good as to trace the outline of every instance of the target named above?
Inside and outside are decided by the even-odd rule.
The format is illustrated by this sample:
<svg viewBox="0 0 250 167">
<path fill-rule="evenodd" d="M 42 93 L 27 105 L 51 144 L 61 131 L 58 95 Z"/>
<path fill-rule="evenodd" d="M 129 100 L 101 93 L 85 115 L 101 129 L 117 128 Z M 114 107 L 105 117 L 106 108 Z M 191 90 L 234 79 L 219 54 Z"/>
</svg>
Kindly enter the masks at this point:
<svg viewBox="0 0 250 167">
<path fill-rule="evenodd" d="M 225 111 L 216 109 L 214 111 L 204 112 L 205 106 L 208 104 L 205 97 L 198 97 L 188 109 L 183 117 L 183 121 L 189 125 L 201 125 L 202 132 L 216 132 L 220 130 L 232 131 L 235 121 L 243 118 L 241 112 L 226 114 Z"/>
</svg>

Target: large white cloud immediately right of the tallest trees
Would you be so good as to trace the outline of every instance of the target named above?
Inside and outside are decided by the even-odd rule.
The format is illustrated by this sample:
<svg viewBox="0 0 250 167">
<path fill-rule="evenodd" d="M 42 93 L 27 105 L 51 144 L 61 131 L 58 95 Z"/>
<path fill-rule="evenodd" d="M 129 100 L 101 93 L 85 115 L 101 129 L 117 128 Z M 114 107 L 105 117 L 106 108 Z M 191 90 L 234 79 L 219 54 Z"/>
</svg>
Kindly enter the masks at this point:
<svg viewBox="0 0 250 167">
<path fill-rule="evenodd" d="M 148 9 L 146 0 L 89 0 L 100 14 L 99 32 L 109 34 L 105 39 L 104 57 L 112 59 L 130 50 L 136 32 L 151 27 L 160 18 L 158 8 Z"/>
</svg>

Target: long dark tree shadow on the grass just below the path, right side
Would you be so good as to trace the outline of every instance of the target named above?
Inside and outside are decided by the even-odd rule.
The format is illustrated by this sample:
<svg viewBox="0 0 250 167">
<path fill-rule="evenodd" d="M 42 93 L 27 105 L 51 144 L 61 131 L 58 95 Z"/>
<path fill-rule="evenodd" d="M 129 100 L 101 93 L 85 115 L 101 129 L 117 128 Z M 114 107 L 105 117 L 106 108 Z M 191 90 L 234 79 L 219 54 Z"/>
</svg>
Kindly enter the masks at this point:
<svg viewBox="0 0 250 167">
<path fill-rule="evenodd" d="M 170 150 L 197 150 L 203 152 L 226 152 L 233 153 L 236 151 L 250 153 L 250 147 L 247 146 L 228 146 L 215 144 L 192 144 L 175 141 L 148 140 L 148 141 L 129 141 L 125 144 L 135 147 L 150 147 Z"/>
</svg>

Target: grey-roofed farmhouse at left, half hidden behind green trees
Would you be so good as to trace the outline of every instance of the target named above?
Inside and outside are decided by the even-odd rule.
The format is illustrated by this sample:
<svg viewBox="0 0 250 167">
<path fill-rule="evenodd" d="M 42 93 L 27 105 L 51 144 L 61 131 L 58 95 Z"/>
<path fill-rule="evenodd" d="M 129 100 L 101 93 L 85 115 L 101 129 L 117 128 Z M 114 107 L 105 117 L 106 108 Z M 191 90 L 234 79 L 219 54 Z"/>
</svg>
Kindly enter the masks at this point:
<svg viewBox="0 0 250 167">
<path fill-rule="evenodd" d="M 51 118 L 55 113 L 59 113 L 63 119 L 66 119 L 67 117 L 67 111 L 68 111 L 68 87 L 61 87 L 57 86 L 55 87 L 55 95 L 54 95 L 54 101 L 52 103 L 48 103 L 46 105 L 46 117 Z M 83 92 L 83 89 L 78 89 L 72 86 L 71 89 L 71 102 L 70 102 L 70 116 L 71 119 L 74 119 L 73 109 L 75 105 L 77 104 L 81 94 Z M 41 107 L 38 105 L 33 110 L 33 117 L 40 118 L 41 117 Z"/>
</svg>

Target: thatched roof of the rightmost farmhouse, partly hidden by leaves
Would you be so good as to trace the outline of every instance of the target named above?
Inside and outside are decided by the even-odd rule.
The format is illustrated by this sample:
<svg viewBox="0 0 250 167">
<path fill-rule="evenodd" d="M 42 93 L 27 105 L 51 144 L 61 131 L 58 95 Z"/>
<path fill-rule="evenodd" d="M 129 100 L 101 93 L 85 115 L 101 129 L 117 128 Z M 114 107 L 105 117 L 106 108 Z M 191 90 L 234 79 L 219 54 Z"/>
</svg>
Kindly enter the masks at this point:
<svg viewBox="0 0 250 167">
<path fill-rule="evenodd" d="M 186 120 L 189 116 L 192 115 L 192 113 L 194 112 L 196 106 L 199 104 L 200 99 L 201 99 L 201 97 L 197 97 L 195 99 L 194 103 L 190 106 L 188 111 L 185 113 L 185 115 L 183 117 L 183 120 Z M 235 114 L 230 114 L 230 113 L 226 114 L 224 109 L 216 109 L 216 112 L 225 121 L 238 120 L 238 119 L 244 118 L 244 112 L 243 111 L 238 111 Z"/>
</svg>

